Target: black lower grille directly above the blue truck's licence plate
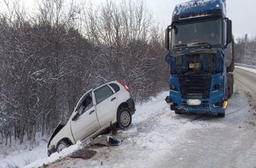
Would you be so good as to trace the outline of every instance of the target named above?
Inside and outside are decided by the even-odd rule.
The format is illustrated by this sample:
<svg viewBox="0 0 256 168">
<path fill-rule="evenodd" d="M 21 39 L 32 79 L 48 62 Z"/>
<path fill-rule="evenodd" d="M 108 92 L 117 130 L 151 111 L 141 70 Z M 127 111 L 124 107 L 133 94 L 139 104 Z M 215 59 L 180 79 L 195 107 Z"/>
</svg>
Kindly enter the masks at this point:
<svg viewBox="0 0 256 168">
<path fill-rule="evenodd" d="M 183 99 L 207 99 L 212 76 L 204 73 L 190 73 L 180 76 L 180 91 Z"/>
</svg>

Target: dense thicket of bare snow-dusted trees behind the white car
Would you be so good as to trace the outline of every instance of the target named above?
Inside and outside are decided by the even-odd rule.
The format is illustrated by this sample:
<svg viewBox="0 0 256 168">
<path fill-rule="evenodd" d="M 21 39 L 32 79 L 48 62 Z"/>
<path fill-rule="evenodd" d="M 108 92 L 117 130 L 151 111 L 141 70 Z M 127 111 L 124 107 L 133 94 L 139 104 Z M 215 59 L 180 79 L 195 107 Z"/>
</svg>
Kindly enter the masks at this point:
<svg viewBox="0 0 256 168">
<path fill-rule="evenodd" d="M 43 0 L 34 15 L 2 0 L 0 133 L 35 141 L 66 121 L 86 90 L 114 79 L 137 100 L 167 89 L 163 34 L 144 2 L 99 7 Z"/>
</svg>

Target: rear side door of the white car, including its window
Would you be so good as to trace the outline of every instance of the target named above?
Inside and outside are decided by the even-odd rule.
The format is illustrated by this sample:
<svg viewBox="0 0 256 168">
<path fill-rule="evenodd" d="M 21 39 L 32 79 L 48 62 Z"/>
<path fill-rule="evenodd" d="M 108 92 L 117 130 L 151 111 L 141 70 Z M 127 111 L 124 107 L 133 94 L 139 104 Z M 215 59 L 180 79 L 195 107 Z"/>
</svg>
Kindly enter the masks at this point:
<svg viewBox="0 0 256 168">
<path fill-rule="evenodd" d="M 102 128 L 105 124 L 109 124 L 115 117 L 117 96 L 108 85 L 94 90 L 94 95 L 96 98 L 96 113 L 99 125 Z"/>
</svg>

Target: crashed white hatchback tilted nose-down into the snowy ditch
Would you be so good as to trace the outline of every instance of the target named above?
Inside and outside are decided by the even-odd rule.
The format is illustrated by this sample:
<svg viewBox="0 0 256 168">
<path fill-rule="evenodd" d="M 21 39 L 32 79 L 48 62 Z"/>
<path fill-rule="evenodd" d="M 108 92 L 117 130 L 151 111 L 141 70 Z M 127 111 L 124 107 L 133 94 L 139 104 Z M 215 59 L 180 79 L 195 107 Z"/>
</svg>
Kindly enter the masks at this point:
<svg viewBox="0 0 256 168">
<path fill-rule="evenodd" d="M 79 99 L 69 121 L 59 124 L 53 132 L 47 146 L 48 156 L 76 141 L 85 142 L 96 137 L 114 124 L 128 128 L 134 111 L 134 100 L 124 83 L 112 81 L 90 89 Z"/>
</svg>

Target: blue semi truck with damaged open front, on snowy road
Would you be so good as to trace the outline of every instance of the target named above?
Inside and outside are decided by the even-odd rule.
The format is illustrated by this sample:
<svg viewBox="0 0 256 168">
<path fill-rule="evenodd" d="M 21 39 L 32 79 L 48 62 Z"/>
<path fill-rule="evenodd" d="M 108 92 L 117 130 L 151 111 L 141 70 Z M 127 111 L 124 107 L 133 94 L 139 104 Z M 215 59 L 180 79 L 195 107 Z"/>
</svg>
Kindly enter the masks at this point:
<svg viewBox="0 0 256 168">
<path fill-rule="evenodd" d="M 176 114 L 208 112 L 225 117 L 235 69 L 232 21 L 225 0 L 193 0 L 176 5 L 165 31 L 170 95 Z"/>
</svg>

